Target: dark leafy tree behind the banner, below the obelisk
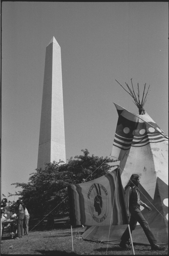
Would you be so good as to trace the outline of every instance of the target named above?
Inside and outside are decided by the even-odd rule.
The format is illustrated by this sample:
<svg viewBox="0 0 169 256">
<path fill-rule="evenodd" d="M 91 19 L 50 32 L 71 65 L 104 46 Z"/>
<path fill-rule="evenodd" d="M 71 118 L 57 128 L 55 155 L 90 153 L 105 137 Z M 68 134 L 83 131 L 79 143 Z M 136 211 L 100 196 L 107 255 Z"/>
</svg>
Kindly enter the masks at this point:
<svg viewBox="0 0 169 256">
<path fill-rule="evenodd" d="M 108 163 L 113 160 L 110 158 L 89 156 L 87 149 L 81 151 L 83 155 L 75 156 L 74 160 L 71 157 L 68 164 L 63 164 L 61 160 L 48 163 L 44 169 L 36 169 L 36 173 L 31 173 L 28 183 L 12 184 L 22 188 L 15 195 L 20 196 L 19 199 L 23 200 L 32 214 L 43 218 L 54 208 L 53 213 L 68 212 L 68 185 L 99 178 L 111 168 Z"/>
</svg>

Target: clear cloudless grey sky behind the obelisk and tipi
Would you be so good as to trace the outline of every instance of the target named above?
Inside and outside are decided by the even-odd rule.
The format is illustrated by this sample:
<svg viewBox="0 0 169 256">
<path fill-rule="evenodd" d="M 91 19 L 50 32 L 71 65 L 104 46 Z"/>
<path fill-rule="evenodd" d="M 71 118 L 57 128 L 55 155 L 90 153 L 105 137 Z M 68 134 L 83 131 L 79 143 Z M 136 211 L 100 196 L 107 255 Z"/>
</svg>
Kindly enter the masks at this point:
<svg viewBox="0 0 169 256">
<path fill-rule="evenodd" d="M 37 168 L 46 46 L 61 47 L 66 159 L 109 156 L 117 84 L 150 84 L 145 110 L 168 134 L 167 2 L 2 2 L 2 193 Z M 17 188 L 16 191 L 19 191 Z M 13 200 L 14 197 L 9 198 Z"/>
</svg>

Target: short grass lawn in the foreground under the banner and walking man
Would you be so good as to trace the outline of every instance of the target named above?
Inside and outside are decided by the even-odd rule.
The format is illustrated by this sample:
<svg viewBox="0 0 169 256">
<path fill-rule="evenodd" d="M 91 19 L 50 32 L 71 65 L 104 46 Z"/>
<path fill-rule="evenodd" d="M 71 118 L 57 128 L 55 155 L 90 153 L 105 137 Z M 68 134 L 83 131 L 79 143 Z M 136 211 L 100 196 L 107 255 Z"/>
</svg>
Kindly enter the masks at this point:
<svg viewBox="0 0 169 256">
<path fill-rule="evenodd" d="M 74 252 L 72 252 L 72 239 L 70 228 L 54 229 L 52 231 L 31 231 L 29 236 L 21 239 L 2 240 L 1 254 L 54 254 L 60 255 L 131 255 L 132 250 L 125 251 L 116 244 L 98 244 L 97 242 L 76 239 L 84 232 L 85 227 L 73 229 Z M 168 245 L 165 251 L 151 251 L 150 246 L 135 245 L 135 255 L 168 255 Z"/>
</svg>

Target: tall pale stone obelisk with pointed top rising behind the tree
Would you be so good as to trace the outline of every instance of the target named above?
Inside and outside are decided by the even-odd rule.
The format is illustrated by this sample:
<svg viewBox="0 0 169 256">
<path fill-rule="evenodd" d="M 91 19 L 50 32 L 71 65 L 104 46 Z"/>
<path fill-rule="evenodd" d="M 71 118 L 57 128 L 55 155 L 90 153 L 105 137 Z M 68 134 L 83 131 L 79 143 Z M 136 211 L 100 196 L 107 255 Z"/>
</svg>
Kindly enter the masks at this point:
<svg viewBox="0 0 169 256">
<path fill-rule="evenodd" d="M 37 168 L 60 159 L 66 163 L 62 64 L 61 49 L 53 37 L 46 46 Z"/>
</svg>

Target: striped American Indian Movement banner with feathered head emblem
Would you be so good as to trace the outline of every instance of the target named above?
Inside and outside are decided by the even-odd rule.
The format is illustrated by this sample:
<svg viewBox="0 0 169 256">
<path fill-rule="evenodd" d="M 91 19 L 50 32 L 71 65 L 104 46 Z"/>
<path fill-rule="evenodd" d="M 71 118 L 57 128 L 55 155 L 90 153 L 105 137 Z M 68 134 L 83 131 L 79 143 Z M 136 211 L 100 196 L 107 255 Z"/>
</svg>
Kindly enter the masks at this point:
<svg viewBox="0 0 169 256">
<path fill-rule="evenodd" d="M 72 225 L 128 224 L 118 169 L 90 182 L 68 186 L 68 195 Z"/>
</svg>

